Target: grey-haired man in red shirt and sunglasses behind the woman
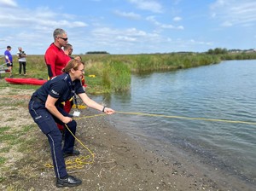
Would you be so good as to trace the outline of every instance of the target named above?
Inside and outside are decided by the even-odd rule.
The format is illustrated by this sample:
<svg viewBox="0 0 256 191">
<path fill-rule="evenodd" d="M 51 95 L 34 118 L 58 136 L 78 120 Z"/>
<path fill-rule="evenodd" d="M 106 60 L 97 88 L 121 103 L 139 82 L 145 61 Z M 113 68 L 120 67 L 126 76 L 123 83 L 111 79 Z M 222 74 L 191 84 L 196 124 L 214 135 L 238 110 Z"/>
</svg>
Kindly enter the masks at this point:
<svg viewBox="0 0 256 191">
<path fill-rule="evenodd" d="M 67 32 L 61 28 L 56 28 L 53 32 L 54 43 L 49 45 L 49 48 L 46 50 L 44 55 L 44 61 L 48 69 L 48 78 L 51 79 L 55 76 L 60 75 L 62 69 L 66 67 L 67 62 L 71 58 L 64 53 L 62 47 L 66 46 L 67 41 Z M 67 113 L 71 110 L 70 101 L 65 102 L 64 109 Z M 57 124 L 60 130 L 64 130 L 64 127 L 61 124 Z"/>
</svg>

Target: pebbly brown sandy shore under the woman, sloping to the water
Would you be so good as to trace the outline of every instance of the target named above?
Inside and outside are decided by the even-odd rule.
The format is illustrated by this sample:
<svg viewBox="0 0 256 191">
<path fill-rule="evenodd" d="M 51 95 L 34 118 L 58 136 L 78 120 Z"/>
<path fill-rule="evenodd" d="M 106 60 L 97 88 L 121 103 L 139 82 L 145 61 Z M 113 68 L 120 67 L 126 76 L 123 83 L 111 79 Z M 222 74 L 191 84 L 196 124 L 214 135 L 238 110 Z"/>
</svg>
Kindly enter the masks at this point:
<svg viewBox="0 0 256 191">
<path fill-rule="evenodd" d="M 23 98 L 27 100 L 26 96 Z M 23 119 L 22 125 L 34 125 L 26 108 L 20 109 L 24 111 L 12 110 L 17 112 L 15 119 L 19 119 L 19 122 Z M 137 138 L 128 136 L 118 127 L 110 124 L 108 118 L 111 118 L 111 115 L 98 116 L 97 114 L 102 113 L 91 109 L 84 109 L 81 112 L 81 118 L 77 119 L 76 136 L 95 154 L 95 160 L 93 164 L 84 165 L 82 168 L 68 169 L 68 173 L 79 177 L 83 183 L 79 187 L 62 189 L 106 191 L 253 190 L 244 187 L 236 180 L 222 182 L 221 177 L 212 173 L 214 169 L 212 171 L 204 169 L 199 161 L 184 156 L 172 145 L 165 146 L 168 154 L 160 155 L 157 151 L 157 142 L 151 142 L 155 148 L 141 144 Z M 86 116 L 93 117 L 86 118 Z M 7 124 L 10 123 L 10 120 L 7 121 Z M 14 126 L 20 125 L 15 121 L 13 123 Z M 3 123 L 3 125 L 5 124 Z M 33 128 L 31 135 L 38 140 L 38 144 L 32 146 L 34 154 L 25 155 L 23 158 L 20 155 L 21 159 L 17 159 L 17 162 L 10 162 L 12 165 L 9 166 L 9 173 L 4 175 L 8 178 L 0 182 L 3 190 L 6 190 L 5 188 L 9 188 L 9 190 L 61 190 L 61 188 L 55 187 L 53 169 L 44 167 L 46 163 L 51 163 L 49 143 L 46 136 L 37 128 Z M 78 141 L 76 149 L 79 149 L 81 156 L 90 155 Z M 12 151 L 9 154 L 15 155 Z M 15 159 L 15 157 L 13 158 Z M 233 182 L 236 183 L 233 184 Z"/>
</svg>

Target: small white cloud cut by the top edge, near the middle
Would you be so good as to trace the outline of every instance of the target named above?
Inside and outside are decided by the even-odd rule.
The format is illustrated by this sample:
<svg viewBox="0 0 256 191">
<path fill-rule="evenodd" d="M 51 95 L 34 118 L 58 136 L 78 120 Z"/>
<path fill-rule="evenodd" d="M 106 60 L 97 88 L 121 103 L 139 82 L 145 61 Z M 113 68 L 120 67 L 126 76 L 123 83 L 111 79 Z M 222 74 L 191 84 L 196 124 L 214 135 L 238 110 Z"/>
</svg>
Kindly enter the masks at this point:
<svg viewBox="0 0 256 191">
<path fill-rule="evenodd" d="M 137 6 L 137 9 L 149 10 L 154 13 L 162 13 L 163 8 L 160 3 L 153 0 L 128 0 Z"/>
</svg>

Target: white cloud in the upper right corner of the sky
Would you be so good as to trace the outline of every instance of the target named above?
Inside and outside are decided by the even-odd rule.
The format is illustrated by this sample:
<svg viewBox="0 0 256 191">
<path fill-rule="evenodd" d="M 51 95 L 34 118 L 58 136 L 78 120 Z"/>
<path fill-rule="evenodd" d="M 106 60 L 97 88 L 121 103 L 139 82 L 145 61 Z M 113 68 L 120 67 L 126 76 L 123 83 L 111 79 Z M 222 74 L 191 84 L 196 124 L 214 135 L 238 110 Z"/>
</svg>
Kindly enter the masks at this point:
<svg viewBox="0 0 256 191">
<path fill-rule="evenodd" d="M 256 21 L 254 0 L 217 0 L 210 9 L 212 18 L 221 20 L 222 26 L 253 26 Z"/>
</svg>

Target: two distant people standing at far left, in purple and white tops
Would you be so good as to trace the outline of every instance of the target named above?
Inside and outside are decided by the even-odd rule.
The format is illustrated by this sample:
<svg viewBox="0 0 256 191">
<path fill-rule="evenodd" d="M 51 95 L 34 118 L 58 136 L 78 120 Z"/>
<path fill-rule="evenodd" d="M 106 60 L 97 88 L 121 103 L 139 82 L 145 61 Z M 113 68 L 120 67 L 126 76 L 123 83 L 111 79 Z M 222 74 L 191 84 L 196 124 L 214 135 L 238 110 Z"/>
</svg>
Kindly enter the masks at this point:
<svg viewBox="0 0 256 191">
<path fill-rule="evenodd" d="M 13 62 L 13 56 L 11 54 L 11 46 L 7 46 L 6 50 L 4 51 L 4 60 L 6 63 L 6 66 L 9 69 L 9 78 L 13 77 L 13 67 L 14 67 L 14 62 Z M 19 61 L 19 73 L 21 75 L 21 70 L 23 68 L 23 74 L 26 75 L 26 53 L 25 51 L 22 50 L 21 47 L 18 48 L 18 52 L 17 52 L 17 56 L 18 56 L 18 61 Z"/>
</svg>

